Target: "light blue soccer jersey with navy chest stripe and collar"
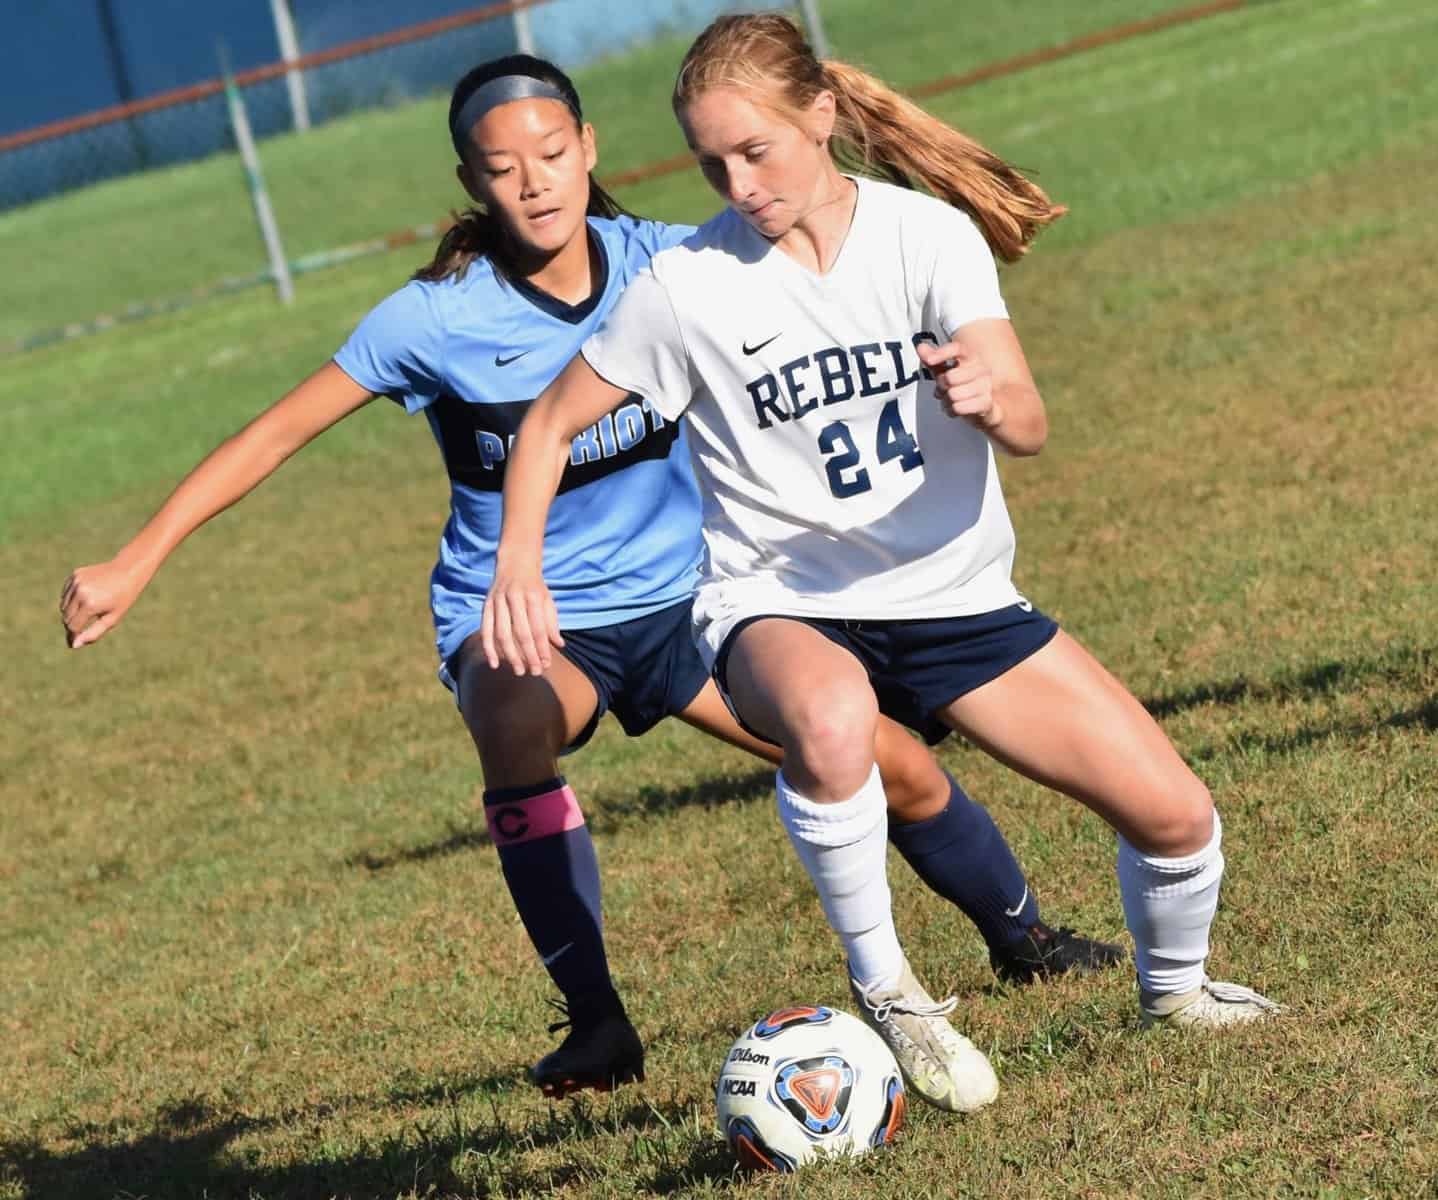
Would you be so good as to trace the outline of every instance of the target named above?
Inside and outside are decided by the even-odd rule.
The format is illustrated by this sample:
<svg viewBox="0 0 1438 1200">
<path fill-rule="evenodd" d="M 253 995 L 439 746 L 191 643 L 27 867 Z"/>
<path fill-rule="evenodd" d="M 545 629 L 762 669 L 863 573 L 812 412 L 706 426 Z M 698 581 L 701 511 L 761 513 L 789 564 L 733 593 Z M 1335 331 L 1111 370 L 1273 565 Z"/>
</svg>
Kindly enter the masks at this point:
<svg viewBox="0 0 1438 1200">
<path fill-rule="evenodd" d="M 568 305 L 495 273 L 413 281 L 335 354 L 361 387 L 424 412 L 450 476 L 450 517 L 430 577 L 440 658 L 479 627 L 495 573 L 509 443 L 531 401 L 604 321 L 650 258 L 690 226 L 590 219 L 601 278 Z M 628 396 L 574 439 L 545 528 L 544 576 L 561 629 L 592 629 L 683 600 L 697 581 L 700 501 L 684 433 Z"/>
</svg>

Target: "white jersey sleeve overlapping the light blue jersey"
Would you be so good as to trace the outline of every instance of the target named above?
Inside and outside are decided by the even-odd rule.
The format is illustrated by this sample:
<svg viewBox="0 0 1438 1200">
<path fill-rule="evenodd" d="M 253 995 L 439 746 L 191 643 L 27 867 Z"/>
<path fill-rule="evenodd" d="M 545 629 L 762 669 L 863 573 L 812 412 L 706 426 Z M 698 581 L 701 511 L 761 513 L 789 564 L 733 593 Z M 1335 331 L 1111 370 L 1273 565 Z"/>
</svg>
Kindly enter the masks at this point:
<svg viewBox="0 0 1438 1200">
<path fill-rule="evenodd" d="M 689 351 L 664 285 L 646 268 L 584 342 L 584 360 L 607 383 L 677 420 L 693 396 Z"/>
</svg>

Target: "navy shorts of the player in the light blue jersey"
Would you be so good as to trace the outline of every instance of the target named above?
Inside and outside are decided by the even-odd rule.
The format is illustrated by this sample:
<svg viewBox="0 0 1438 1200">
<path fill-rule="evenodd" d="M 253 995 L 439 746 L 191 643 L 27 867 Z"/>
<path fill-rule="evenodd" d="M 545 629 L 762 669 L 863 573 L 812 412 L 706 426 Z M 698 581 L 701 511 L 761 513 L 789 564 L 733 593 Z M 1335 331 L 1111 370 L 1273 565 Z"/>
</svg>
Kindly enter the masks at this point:
<svg viewBox="0 0 1438 1200">
<path fill-rule="evenodd" d="M 693 704 L 709 682 L 709 672 L 695 647 L 692 607 L 693 600 L 687 599 L 618 624 L 561 630 L 559 653 L 584 672 L 600 698 L 590 724 L 565 747 L 565 754 L 594 737 L 605 712 L 613 712 L 624 732 L 637 738 Z M 459 655 L 452 655 L 440 671 L 456 699 Z"/>
</svg>

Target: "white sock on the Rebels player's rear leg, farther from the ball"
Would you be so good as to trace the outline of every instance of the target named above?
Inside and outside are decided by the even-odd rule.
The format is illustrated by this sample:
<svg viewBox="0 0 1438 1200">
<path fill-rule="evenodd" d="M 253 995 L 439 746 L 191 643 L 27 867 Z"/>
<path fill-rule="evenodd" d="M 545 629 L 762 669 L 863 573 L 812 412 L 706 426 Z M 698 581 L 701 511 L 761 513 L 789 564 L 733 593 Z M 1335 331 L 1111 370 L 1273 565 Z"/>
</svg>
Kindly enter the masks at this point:
<svg viewBox="0 0 1438 1200">
<path fill-rule="evenodd" d="M 1119 892 L 1133 934 L 1133 961 L 1146 993 L 1178 994 L 1204 983 L 1208 929 L 1224 878 L 1224 826 L 1214 810 L 1214 836 L 1194 855 L 1145 855 L 1119 839 Z"/>
</svg>

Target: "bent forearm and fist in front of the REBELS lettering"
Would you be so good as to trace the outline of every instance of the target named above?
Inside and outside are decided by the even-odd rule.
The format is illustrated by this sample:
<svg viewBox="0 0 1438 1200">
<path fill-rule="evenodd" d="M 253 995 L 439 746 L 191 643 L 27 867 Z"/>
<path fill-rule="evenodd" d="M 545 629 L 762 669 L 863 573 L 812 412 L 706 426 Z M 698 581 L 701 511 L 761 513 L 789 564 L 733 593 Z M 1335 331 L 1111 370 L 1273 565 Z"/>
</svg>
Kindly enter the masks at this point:
<svg viewBox="0 0 1438 1200">
<path fill-rule="evenodd" d="M 917 351 L 948 416 L 966 420 L 1011 455 L 1043 449 L 1048 416 L 1008 321 L 972 321 L 945 345 L 920 342 Z"/>
</svg>

